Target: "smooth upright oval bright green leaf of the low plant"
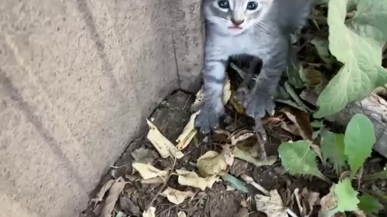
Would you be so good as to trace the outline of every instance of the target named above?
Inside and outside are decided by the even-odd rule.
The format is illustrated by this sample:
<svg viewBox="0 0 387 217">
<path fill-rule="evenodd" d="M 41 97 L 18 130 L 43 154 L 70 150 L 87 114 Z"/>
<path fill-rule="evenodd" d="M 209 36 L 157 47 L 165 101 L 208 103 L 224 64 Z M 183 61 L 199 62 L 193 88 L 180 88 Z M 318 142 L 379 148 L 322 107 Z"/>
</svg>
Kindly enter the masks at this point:
<svg viewBox="0 0 387 217">
<path fill-rule="evenodd" d="M 375 142 L 375 132 L 370 119 L 363 114 L 353 115 L 344 136 L 344 153 L 348 158 L 352 175 L 355 175 L 365 159 L 371 156 Z"/>
</svg>

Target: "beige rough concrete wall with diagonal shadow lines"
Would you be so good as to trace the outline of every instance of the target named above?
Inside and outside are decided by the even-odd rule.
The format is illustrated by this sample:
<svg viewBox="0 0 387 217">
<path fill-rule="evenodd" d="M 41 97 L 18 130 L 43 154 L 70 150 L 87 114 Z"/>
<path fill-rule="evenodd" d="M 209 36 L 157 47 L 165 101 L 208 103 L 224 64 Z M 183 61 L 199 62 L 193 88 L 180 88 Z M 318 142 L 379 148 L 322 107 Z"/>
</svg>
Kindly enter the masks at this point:
<svg viewBox="0 0 387 217">
<path fill-rule="evenodd" d="M 200 0 L 182 2 L 0 1 L 1 217 L 78 216 L 153 108 L 197 82 Z"/>
</svg>

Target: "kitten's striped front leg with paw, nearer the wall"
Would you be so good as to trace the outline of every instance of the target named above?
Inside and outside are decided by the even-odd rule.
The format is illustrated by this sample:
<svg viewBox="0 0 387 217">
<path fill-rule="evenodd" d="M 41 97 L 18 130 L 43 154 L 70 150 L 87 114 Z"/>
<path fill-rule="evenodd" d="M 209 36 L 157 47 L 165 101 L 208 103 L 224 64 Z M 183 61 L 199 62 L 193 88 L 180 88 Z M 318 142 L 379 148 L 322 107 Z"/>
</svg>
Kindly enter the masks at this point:
<svg viewBox="0 0 387 217">
<path fill-rule="evenodd" d="M 208 60 L 202 71 L 204 103 L 195 119 L 195 126 L 199 127 L 203 134 L 219 127 L 219 118 L 224 114 L 222 98 L 226 64 L 226 59 Z"/>
</svg>

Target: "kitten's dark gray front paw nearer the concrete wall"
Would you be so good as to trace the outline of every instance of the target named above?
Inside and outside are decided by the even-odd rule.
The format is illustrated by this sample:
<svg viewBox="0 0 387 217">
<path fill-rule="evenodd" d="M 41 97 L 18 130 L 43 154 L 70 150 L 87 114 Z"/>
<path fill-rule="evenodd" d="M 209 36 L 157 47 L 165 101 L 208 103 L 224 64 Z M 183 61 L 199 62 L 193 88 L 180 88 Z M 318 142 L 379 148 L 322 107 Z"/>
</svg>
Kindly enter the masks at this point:
<svg viewBox="0 0 387 217">
<path fill-rule="evenodd" d="M 219 127 L 219 118 L 222 115 L 223 109 L 217 111 L 204 105 L 195 119 L 195 127 L 200 128 L 202 134 L 209 134 L 211 130 Z"/>
</svg>

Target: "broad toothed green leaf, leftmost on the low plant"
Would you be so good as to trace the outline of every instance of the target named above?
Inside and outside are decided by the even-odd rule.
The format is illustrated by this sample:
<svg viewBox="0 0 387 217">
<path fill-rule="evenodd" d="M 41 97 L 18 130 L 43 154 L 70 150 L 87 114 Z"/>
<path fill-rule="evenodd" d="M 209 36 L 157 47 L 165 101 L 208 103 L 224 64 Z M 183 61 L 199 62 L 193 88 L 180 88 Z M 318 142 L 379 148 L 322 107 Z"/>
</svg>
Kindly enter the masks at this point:
<svg viewBox="0 0 387 217">
<path fill-rule="evenodd" d="M 327 181 L 317 168 L 317 154 L 310 149 L 309 141 L 284 142 L 278 152 L 282 165 L 291 175 L 314 175 Z"/>
</svg>

